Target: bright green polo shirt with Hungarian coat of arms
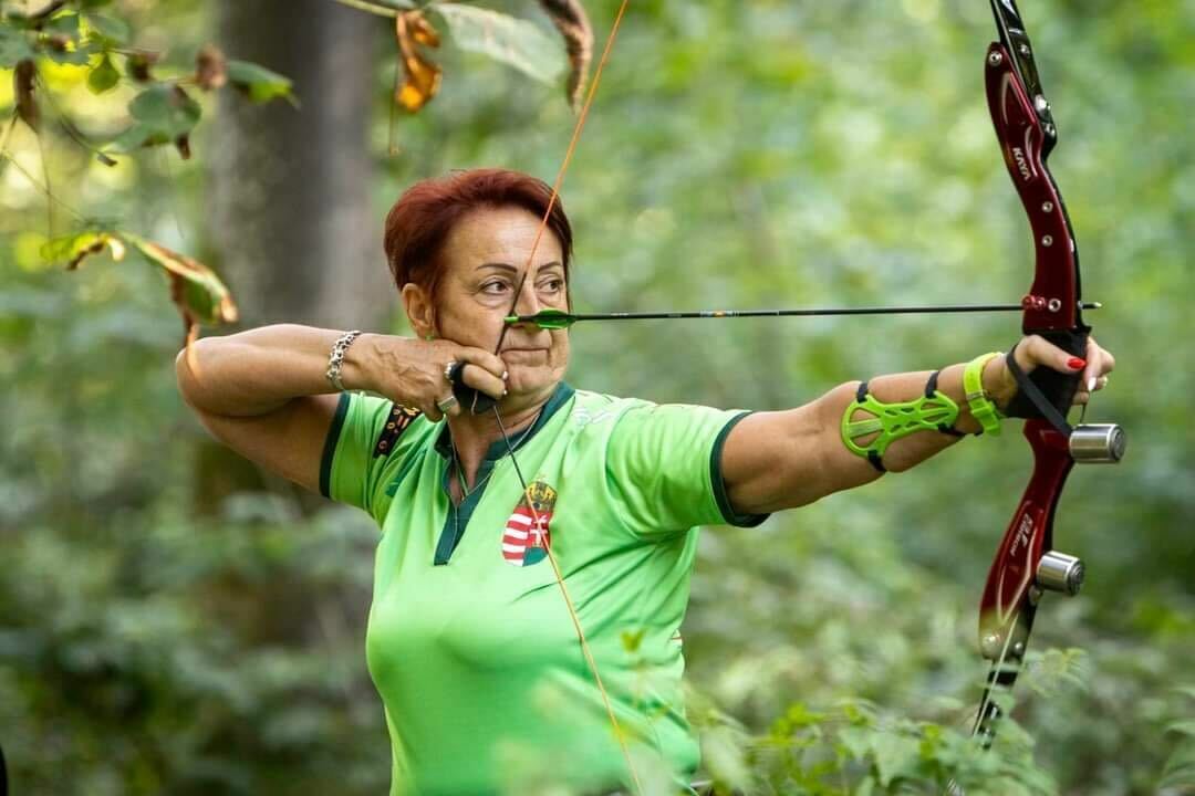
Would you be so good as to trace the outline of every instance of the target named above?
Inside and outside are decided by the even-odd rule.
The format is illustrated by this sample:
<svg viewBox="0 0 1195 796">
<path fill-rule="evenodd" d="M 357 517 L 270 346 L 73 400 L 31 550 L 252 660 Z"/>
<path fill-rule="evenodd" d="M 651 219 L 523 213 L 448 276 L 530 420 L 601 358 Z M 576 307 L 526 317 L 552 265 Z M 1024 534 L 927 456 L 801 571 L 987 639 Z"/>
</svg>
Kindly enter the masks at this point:
<svg viewBox="0 0 1195 796">
<path fill-rule="evenodd" d="M 535 422 L 495 443 L 459 507 L 446 424 L 341 395 L 325 496 L 381 527 L 366 634 L 393 754 L 391 794 L 614 788 L 626 764 L 544 545 L 576 606 L 636 770 L 686 780 L 680 624 L 697 527 L 736 516 L 722 444 L 746 416 L 562 384 Z"/>
</svg>

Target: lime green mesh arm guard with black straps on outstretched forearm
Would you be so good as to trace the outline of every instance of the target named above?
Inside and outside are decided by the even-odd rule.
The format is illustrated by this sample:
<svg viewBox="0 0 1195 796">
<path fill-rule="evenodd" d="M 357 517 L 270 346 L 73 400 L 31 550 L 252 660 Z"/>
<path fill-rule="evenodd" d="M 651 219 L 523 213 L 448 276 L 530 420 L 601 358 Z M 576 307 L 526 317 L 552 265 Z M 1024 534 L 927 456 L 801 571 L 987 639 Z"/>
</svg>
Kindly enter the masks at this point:
<svg viewBox="0 0 1195 796">
<path fill-rule="evenodd" d="M 863 414 L 860 419 L 856 419 Z M 913 401 L 883 403 L 868 391 L 868 382 L 859 384 L 854 401 L 842 413 L 842 444 L 856 456 L 865 457 L 871 467 L 884 473 L 883 455 L 901 437 L 918 431 L 940 431 L 961 437 L 954 425 L 958 405 L 945 393 L 938 391 L 938 371 L 925 383 L 925 394 Z M 860 444 L 864 437 L 875 436 Z"/>
</svg>

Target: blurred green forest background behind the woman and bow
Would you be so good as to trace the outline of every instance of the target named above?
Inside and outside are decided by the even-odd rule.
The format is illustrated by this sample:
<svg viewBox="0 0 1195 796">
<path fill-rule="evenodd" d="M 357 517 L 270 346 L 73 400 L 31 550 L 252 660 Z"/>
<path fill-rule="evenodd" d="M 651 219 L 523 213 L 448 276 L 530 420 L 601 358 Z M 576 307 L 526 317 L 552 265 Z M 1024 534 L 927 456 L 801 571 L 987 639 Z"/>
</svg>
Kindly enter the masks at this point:
<svg viewBox="0 0 1195 796">
<path fill-rule="evenodd" d="M 586 4 L 599 47 L 615 5 Z M 183 334 L 161 269 L 99 255 L 67 271 L 47 241 L 98 218 L 200 259 L 240 308 L 204 334 L 283 321 L 406 333 L 385 211 L 451 168 L 551 180 L 574 121 L 563 44 L 533 2 L 485 4 L 539 31 L 519 29 L 521 55 L 497 57 L 431 10 L 453 33 L 430 51 L 441 91 L 393 116 L 385 17 L 331 0 L 81 6 L 117 20 L 105 35 L 120 82 L 93 76 L 98 51 L 39 56 L 42 134 L 17 124 L 0 160 L 0 745 L 13 792 L 385 792 L 362 643 L 370 520 L 208 439 L 176 390 Z M 707 773 L 727 785 L 929 794 L 956 773 L 972 792 L 1195 792 L 1195 6 L 1022 12 L 1060 128 L 1050 165 L 1085 298 L 1105 304 L 1091 320 L 1119 359 L 1090 415 L 1130 437 L 1120 467 L 1072 475 L 1059 510 L 1056 544 L 1085 559 L 1087 586 L 1046 601 L 1017 724 L 974 755 L 976 606 L 1029 476 L 1019 433 L 758 530 L 710 529 L 685 649 Z M 0 53 L 27 36 L 0 25 Z M 564 185 L 577 307 L 1017 301 L 1032 251 L 983 98 L 993 31 L 982 0 L 632 2 Z M 189 160 L 108 147 L 143 88 L 116 50 L 165 53 L 153 68 L 167 79 L 194 72 L 208 42 L 293 80 L 295 101 L 191 91 Z M 13 78 L 0 69 L 4 119 Z M 1016 317 L 581 326 L 570 381 L 774 409 L 1007 347 Z"/>
</svg>

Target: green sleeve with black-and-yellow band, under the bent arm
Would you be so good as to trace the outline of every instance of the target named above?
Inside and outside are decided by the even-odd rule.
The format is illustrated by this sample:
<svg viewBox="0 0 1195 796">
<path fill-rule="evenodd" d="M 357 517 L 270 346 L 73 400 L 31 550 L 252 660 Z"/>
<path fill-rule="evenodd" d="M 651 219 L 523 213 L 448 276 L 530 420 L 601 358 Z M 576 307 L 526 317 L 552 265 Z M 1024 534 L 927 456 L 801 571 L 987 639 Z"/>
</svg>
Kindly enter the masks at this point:
<svg viewBox="0 0 1195 796">
<path fill-rule="evenodd" d="M 380 525 L 390 508 L 386 486 L 411 451 L 403 432 L 419 413 L 364 393 L 341 393 L 324 440 L 319 490 L 368 512 Z"/>
</svg>

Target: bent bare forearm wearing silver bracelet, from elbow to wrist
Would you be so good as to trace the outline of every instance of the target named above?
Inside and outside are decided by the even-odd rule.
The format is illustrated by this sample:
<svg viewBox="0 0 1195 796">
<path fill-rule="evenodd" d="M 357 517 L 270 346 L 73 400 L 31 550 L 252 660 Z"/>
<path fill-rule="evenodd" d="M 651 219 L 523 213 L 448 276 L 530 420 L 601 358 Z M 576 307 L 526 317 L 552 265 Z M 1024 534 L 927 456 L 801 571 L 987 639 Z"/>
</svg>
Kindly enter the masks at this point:
<svg viewBox="0 0 1195 796">
<path fill-rule="evenodd" d="M 179 391 L 201 412 L 225 416 L 269 414 L 302 395 L 333 393 L 325 372 L 329 353 L 343 332 L 295 323 L 203 338 L 179 352 L 174 363 Z M 361 335 L 361 338 L 372 335 Z M 368 389 L 354 348 L 345 354 L 341 380 L 348 389 Z"/>
</svg>

